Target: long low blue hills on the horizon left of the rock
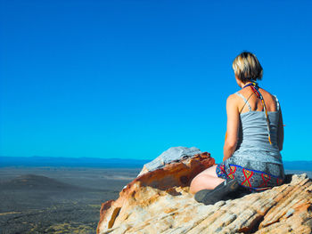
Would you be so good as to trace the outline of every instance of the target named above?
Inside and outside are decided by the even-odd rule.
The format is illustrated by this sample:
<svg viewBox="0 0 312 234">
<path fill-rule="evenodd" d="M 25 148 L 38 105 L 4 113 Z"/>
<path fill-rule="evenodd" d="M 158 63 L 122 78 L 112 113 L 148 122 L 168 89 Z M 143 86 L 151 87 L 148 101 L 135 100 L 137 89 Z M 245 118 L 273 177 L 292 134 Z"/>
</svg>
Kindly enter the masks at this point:
<svg viewBox="0 0 312 234">
<path fill-rule="evenodd" d="M 141 168 L 150 160 L 98 157 L 0 157 L 4 166 L 69 166 L 104 168 Z"/>
</svg>

